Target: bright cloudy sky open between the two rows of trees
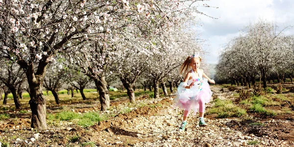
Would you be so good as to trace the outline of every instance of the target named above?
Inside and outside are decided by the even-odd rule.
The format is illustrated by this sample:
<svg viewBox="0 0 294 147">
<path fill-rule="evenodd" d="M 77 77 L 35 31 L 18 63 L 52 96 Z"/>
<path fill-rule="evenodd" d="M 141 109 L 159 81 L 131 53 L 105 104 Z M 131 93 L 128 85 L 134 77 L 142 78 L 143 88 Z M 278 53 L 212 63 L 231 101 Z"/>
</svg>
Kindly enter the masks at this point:
<svg viewBox="0 0 294 147">
<path fill-rule="evenodd" d="M 200 38 L 206 42 L 203 49 L 206 63 L 216 64 L 224 45 L 239 36 L 240 30 L 259 20 L 270 21 L 283 29 L 294 26 L 294 0 L 209 0 L 202 3 L 213 7 L 199 7 L 199 11 L 213 18 L 199 15 Z M 294 28 L 284 32 L 294 35 Z"/>
</svg>

